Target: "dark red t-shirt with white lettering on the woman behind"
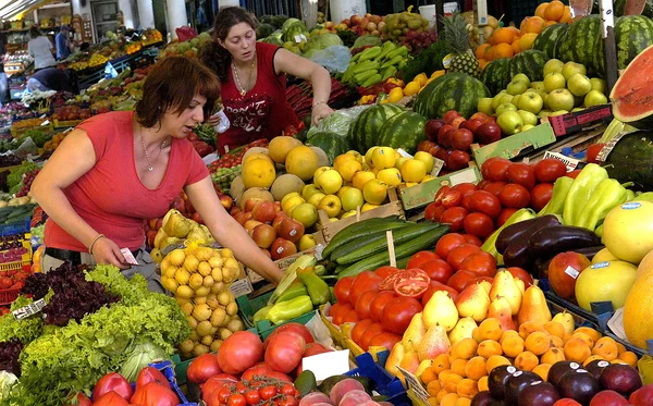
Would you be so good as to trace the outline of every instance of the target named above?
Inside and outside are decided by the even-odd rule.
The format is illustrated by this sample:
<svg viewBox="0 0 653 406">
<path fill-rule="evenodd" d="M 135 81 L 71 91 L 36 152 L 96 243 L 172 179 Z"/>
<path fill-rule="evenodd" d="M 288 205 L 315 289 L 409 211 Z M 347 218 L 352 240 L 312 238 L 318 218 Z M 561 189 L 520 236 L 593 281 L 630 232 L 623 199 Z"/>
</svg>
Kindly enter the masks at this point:
<svg viewBox="0 0 653 406">
<path fill-rule="evenodd" d="M 230 128 L 218 134 L 218 150 L 230 149 L 260 138 L 272 139 L 281 135 L 283 128 L 297 122 L 297 114 L 286 101 L 285 74 L 274 72 L 274 54 L 280 47 L 256 44 L 257 78 L 251 90 L 241 96 L 234 83 L 233 70 L 229 69 L 229 79 L 222 83 L 224 113 L 231 122 Z"/>
</svg>

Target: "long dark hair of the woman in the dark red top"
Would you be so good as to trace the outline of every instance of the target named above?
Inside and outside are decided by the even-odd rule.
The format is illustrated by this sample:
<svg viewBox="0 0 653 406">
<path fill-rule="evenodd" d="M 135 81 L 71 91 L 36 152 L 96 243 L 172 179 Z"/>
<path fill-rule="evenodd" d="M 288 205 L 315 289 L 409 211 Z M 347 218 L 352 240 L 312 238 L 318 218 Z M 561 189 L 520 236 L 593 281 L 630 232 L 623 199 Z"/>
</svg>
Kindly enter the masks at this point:
<svg viewBox="0 0 653 406">
<path fill-rule="evenodd" d="M 247 10 L 239 7 L 225 7 L 221 9 L 213 24 L 214 41 L 205 45 L 199 54 L 199 60 L 215 72 L 221 82 L 226 82 L 229 78 L 229 66 L 232 56 L 224 47 L 218 44 L 218 39 L 224 41 L 231 27 L 241 23 L 248 24 L 252 29 L 257 27 L 256 17 Z"/>
</svg>

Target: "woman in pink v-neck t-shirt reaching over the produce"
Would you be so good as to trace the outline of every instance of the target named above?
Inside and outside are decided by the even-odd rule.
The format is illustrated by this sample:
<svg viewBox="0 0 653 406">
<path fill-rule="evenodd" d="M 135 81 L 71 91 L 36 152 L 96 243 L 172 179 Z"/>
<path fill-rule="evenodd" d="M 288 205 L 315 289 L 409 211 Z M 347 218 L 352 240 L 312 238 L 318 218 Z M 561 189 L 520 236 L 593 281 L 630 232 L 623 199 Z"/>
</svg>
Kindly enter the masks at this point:
<svg viewBox="0 0 653 406">
<path fill-rule="evenodd" d="M 159 62 L 136 112 L 94 116 L 71 132 L 32 185 L 49 214 L 44 270 L 64 260 L 143 273 L 162 292 L 144 249 L 144 222 L 162 217 L 183 188 L 215 241 L 263 278 L 282 272 L 224 210 L 209 172 L 185 139 L 220 96 L 215 75 L 187 58 Z M 131 267 L 121 249 L 139 262 Z M 88 254 L 87 254 L 88 253 Z"/>
</svg>

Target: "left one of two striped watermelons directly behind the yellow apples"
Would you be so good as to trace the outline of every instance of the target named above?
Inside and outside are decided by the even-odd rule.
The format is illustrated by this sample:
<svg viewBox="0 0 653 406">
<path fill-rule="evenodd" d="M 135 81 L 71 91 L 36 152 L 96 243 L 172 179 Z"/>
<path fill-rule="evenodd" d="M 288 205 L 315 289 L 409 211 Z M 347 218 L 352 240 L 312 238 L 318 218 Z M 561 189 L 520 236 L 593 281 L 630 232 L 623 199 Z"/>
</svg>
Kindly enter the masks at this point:
<svg viewBox="0 0 653 406">
<path fill-rule="evenodd" d="M 378 145 L 377 138 L 387 120 L 403 111 L 403 107 L 393 103 L 370 107 L 352 123 L 347 133 L 350 146 L 360 153 L 367 152 L 368 149 Z"/>
</svg>

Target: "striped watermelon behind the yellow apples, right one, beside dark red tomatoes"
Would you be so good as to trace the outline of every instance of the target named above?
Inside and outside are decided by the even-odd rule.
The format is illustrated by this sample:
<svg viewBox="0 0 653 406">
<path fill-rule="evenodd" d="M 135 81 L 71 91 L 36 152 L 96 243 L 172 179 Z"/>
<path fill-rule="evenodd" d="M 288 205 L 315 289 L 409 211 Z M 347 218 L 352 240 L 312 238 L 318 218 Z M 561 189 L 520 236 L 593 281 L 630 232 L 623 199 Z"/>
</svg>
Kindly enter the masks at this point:
<svg viewBox="0 0 653 406">
<path fill-rule="evenodd" d="M 377 145 L 402 148 L 415 153 L 417 145 L 427 139 L 424 125 L 427 120 L 414 111 L 404 111 L 391 118 L 381 130 Z"/>
</svg>

